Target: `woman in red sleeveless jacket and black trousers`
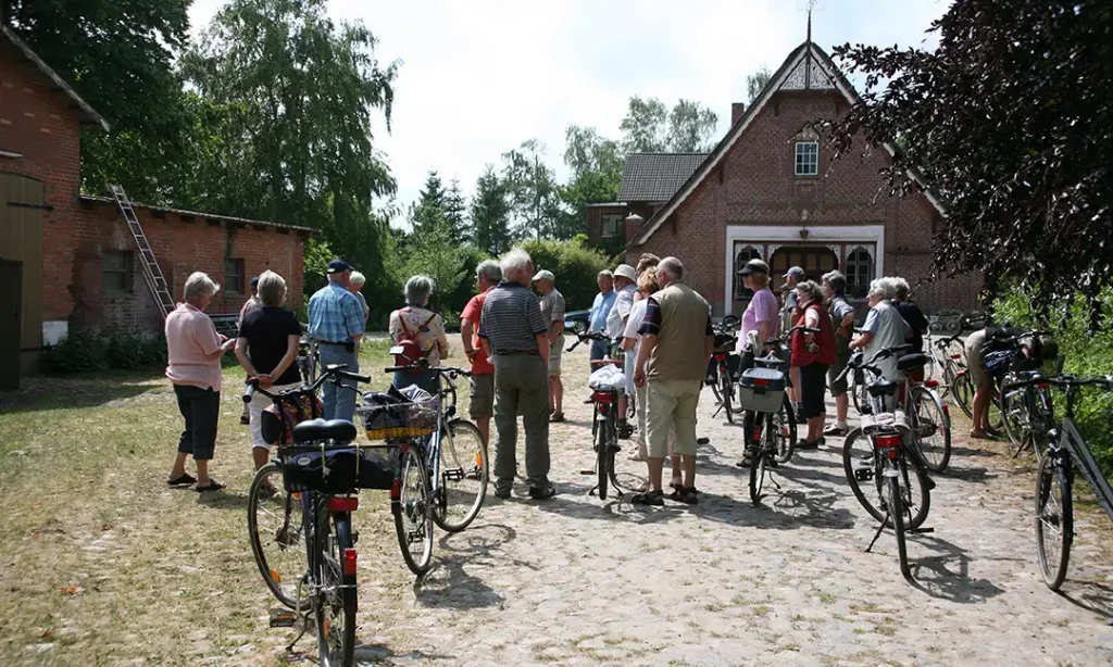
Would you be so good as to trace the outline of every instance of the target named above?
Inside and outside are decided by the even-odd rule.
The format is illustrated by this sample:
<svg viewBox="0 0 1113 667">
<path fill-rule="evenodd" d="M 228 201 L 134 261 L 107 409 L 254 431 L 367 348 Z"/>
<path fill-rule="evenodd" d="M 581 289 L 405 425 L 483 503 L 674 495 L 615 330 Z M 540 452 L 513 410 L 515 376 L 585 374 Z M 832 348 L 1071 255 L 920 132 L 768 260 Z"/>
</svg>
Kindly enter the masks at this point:
<svg viewBox="0 0 1113 667">
<path fill-rule="evenodd" d="M 808 280 L 796 286 L 796 297 L 804 317 L 798 325 L 819 329 L 818 334 L 792 335 L 792 366 L 800 369 L 800 411 L 808 421 L 808 436 L 797 449 L 815 449 L 824 441 L 827 369 L 835 362 L 835 329 L 824 307 L 824 290 Z"/>
</svg>

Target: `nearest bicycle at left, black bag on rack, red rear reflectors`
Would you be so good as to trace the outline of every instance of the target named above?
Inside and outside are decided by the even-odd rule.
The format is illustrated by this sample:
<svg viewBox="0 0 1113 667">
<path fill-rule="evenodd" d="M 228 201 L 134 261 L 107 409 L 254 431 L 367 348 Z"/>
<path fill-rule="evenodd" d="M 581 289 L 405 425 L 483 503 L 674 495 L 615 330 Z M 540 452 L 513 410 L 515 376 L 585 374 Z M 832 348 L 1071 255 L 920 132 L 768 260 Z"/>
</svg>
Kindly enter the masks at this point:
<svg viewBox="0 0 1113 667">
<path fill-rule="evenodd" d="M 250 401 L 255 391 L 279 407 L 287 402 L 301 404 L 303 398 L 308 398 L 311 411 L 316 412 L 317 389 L 326 380 L 339 385 L 344 379 L 371 381 L 365 376 L 347 372 L 344 365 L 335 365 L 327 367 L 312 385 L 278 394 L 263 389 L 258 380 L 249 380 L 244 401 Z M 265 429 L 267 441 L 277 442 L 283 430 L 283 425 Z M 290 643 L 293 648 L 308 630 L 312 615 L 316 621 L 319 663 L 326 667 L 347 667 L 353 661 L 358 606 L 355 550 L 358 535 L 352 529 L 352 512 L 359 506 L 358 490 L 382 488 L 387 474 L 371 460 L 361 471 L 362 452 L 352 445 L 356 430 L 351 421 L 313 418 L 293 425 L 287 436 L 288 440 L 278 446 L 276 459 L 259 468 L 252 480 L 247 508 L 252 552 L 270 593 L 294 611 L 294 615 L 272 615 L 272 627 L 293 626 L 301 617 L 302 631 Z M 285 494 L 279 492 L 275 484 L 279 478 Z M 272 504 L 270 500 L 277 501 Z M 294 516 L 295 502 L 301 509 L 301 522 Z M 280 517 L 270 511 L 273 506 L 277 506 Z M 264 515 L 277 519 L 277 527 L 260 530 L 259 519 Z M 282 574 L 275 566 L 279 557 L 285 559 L 303 539 L 305 560 L 294 557 L 298 563 L 292 566 L 295 570 L 289 581 L 296 581 L 296 586 L 290 591 L 284 587 Z M 278 552 L 268 557 L 272 544 Z"/>
</svg>

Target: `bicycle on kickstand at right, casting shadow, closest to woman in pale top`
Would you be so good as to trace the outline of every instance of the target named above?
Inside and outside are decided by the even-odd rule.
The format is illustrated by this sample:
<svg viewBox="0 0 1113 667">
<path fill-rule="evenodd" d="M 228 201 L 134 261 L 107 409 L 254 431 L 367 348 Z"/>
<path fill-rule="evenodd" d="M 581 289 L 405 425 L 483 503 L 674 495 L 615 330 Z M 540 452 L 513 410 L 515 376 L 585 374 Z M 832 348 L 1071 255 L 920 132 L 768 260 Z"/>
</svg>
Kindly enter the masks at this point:
<svg viewBox="0 0 1113 667">
<path fill-rule="evenodd" d="M 868 361 L 864 360 L 863 352 L 856 352 L 843 371 L 844 376 L 851 370 L 861 370 L 870 376 L 870 381 L 866 382 L 870 410 L 868 415 L 863 416 L 861 425 L 846 437 L 843 445 L 843 469 L 855 498 L 880 522 L 866 551 L 874 548 L 885 528 L 892 527 L 897 541 L 900 574 L 906 579 L 912 579 L 906 532 L 933 531 L 922 526 L 932 507 L 930 491 L 935 488 L 935 482 L 928 477 L 918 449 L 909 446 L 913 431 L 905 412 L 889 409 L 889 405 L 895 402 L 898 385 L 886 379 L 875 366 L 875 361 L 889 358 L 908 348 L 909 346 L 886 348 L 879 350 Z M 868 452 L 855 449 L 859 438 L 868 440 Z M 867 497 L 861 488 L 861 482 L 868 481 L 874 482 L 874 499 Z M 914 490 L 918 494 L 918 498 L 914 495 Z"/>
</svg>

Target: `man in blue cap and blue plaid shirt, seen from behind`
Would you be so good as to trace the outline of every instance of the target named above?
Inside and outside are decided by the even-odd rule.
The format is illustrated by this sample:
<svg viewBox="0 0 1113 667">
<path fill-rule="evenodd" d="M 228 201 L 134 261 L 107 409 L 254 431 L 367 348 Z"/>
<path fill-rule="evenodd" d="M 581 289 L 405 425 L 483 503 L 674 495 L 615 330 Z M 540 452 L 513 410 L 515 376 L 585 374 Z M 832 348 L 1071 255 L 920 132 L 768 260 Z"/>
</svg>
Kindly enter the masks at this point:
<svg viewBox="0 0 1113 667">
<path fill-rule="evenodd" d="M 328 262 L 328 285 L 309 298 L 309 337 L 319 347 L 321 365 L 346 364 L 348 372 L 359 372 L 355 344 L 363 338 L 363 307 L 348 291 L 352 267 L 343 259 Z M 325 419 L 355 416 L 355 388 L 325 382 Z"/>
</svg>

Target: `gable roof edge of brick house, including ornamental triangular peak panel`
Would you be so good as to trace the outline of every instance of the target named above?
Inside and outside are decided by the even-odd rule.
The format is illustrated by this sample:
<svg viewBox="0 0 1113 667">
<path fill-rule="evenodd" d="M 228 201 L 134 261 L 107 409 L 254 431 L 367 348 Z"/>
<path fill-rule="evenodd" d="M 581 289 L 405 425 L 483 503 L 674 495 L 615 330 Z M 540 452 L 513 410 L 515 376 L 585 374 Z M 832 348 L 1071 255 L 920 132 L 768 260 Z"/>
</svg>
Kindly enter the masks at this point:
<svg viewBox="0 0 1113 667">
<path fill-rule="evenodd" d="M 809 33 L 810 34 L 810 33 Z M 661 225 L 668 220 L 669 216 L 676 212 L 677 208 L 691 195 L 696 188 L 703 181 L 708 173 L 710 173 L 730 152 L 738 139 L 746 132 L 750 122 L 757 118 L 761 109 L 769 102 L 772 96 L 781 90 L 788 91 L 802 91 L 802 90 L 830 90 L 840 93 L 848 102 L 851 104 L 857 104 L 861 101 L 857 91 L 850 84 L 850 82 L 843 76 L 835 61 L 831 60 L 830 56 L 827 54 L 821 48 L 812 43 L 810 40 L 804 42 L 799 47 L 792 50 L 788 54 L 784 64 L 780 69 L 769 78 L 765 88 L 761 89 L 760 94 L 754 100 L 754 103 L 746 110 L 746 112 L 739 118 L 727 131 L 726 137 L 716 145 L 715 149 L 711 151 L 709 157 L 699 165 L 699 167 L 692 172 L 692 175 L 684 181 L 684 183 L 677 189 L 677 191 L 669 198 L 668 202 L 662 206 L 658 211 L 646 221 L 641 230 L 630 239 L 629 246 L 640 246 L 649 240 L 653 236 Z M 888 151 L 890 156 L 896 153 L 896 147 L 887 142 L 883 145 L 885 150 Z M 939 212 L 940 216 L 946 216 L 946 211 L 939 201 L 932 195 L 932 192 L 924 186 L 923 179 L 919 175 L 909 171 L 908 176 L 915 180 L 919 186 L 920 190 L 933 207 Z M 624 180 L 623 175 L 623 180 Z M 621 192 L 620 192 L 621 195 Z"/>
</svg>

